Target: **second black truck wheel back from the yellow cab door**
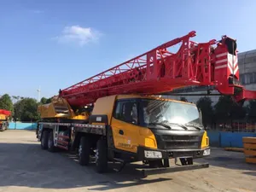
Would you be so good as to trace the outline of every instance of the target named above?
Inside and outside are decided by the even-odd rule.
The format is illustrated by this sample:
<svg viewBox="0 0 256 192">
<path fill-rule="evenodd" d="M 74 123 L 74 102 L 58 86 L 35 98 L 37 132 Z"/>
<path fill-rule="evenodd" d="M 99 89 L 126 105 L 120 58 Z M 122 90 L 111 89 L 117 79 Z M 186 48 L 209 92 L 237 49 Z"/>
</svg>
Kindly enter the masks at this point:
<svg viewBox="0 0 256 192">
<path fill-rule="evenodd" d="M 81 137 L 79 143 L 79 164 L 87 166 L 90 163 L 90 139 Z"/>
</svg>

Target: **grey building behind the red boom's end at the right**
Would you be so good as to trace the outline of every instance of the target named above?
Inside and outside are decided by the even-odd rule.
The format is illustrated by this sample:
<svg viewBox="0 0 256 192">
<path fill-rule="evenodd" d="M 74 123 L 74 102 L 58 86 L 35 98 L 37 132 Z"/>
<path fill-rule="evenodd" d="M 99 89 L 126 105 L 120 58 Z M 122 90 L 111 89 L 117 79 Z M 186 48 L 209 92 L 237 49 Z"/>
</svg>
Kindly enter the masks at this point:
<svg viewBox="0 0 256 192">
<path fill-rule="evenodd" d="M 256 90 L 256 49 L 238 53 L 238 66 L 240 72 L 240 81 L 247 90 Z M 186 92 L 187 94 L 188 92 Z M 201 92 L 193 92 L 193 94 Z M 203 93 L 206 93 L 205 91 Z M 218 93 L 218 91 L 212 91 Z M 168 96 L 168 98 L 179 100 L 181 96 Z M 189 102 L 196 103 L 201 96 L 185 96 Z M 212 99 L 212 105 L 218 102 L 219 96 L 209 96 Z"/>
</svg>

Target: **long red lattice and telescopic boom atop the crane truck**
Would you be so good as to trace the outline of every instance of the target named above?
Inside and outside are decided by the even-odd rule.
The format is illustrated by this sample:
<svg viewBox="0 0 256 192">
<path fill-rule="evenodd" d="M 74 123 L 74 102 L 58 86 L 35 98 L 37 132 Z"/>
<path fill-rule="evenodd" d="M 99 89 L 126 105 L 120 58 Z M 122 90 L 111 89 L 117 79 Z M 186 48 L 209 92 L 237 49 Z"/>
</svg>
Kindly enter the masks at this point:
<svg viewBox="0 0 256 192">
<path fill-rule="evenodd" d="M 190 40 L 195 32 L 173 39 L 90 79 L 60 90 L 72 106 L 96 102 L 102 96 L 118 94 L 154 95 L 186 86 L 212 85 L 237 101 L 256 98 L 239 83 L 236 40 L 223 36 L 198 44 Z M 176 53 L 171 49 L 179 45 Z"/>
</svg>

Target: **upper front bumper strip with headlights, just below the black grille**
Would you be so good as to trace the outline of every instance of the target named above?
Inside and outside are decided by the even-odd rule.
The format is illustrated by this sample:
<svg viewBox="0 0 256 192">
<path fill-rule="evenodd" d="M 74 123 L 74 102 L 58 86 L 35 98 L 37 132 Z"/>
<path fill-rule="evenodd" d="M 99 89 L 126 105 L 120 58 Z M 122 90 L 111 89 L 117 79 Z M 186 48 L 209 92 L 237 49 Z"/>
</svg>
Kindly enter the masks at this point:
<svg viewBox="0 0 256 192">
<path fill-rule="evenodd" d="M 161 157 L 158 158 L 147 158 L 145 157 L 145 151 L 157 151 L 161 153 Z M 160 159 L 172 159 L 172 158 L 202 158 L 210 155 L 211 148 L 183 148 L 183 149 L 170 149 L 170 150 L 161 150 L 161 149 L 152 149 L 145 147 L 137 148 L 137 158 L 138 160 L 160 160 Z"/>
</svg>

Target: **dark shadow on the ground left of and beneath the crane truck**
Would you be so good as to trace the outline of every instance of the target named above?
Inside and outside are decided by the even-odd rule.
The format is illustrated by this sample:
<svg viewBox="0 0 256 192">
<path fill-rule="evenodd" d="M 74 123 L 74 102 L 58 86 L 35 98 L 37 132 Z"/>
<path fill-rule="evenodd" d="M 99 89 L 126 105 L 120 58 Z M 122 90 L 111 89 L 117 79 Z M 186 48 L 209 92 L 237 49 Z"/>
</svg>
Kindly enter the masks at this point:
<svg viewBox="0 0 256 192">
<path fill-rule="evenodd" d="M 143 177 L 138 165 L 128 165 L 122 172 L 98 174 L 93 165 L 83 167 L 76 163 L 74 154 L 52 154 L 38 143 L 0 143 L 0 186 L 26 186 L 45 189 L 90 190 L 120 189 L 147 183 L 172 180 L 167 177 Z"/>
</svg>

